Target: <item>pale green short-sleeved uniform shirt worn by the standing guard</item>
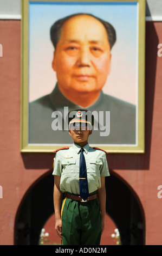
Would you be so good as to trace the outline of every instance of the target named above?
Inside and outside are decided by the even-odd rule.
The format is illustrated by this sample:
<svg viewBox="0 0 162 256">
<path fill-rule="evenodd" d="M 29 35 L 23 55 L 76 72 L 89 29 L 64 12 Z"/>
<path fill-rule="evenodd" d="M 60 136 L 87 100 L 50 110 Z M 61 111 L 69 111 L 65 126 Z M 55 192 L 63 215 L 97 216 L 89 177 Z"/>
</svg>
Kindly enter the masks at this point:
<svg viewBox="0 0 162 256">
<path fill-rule="evenodd" d="M 101 176 L 109 176 L 106 153 L 93 149 L 86 144 L 83 154 L 87 167 L 88 190 L 92 193 L 101 187 Z M 60 190 L 79 194 L 79 145 L 73 144 L 69 149 L 59 150 L 54 159 L 53 175 L 61 176 Z"/>
</svg>

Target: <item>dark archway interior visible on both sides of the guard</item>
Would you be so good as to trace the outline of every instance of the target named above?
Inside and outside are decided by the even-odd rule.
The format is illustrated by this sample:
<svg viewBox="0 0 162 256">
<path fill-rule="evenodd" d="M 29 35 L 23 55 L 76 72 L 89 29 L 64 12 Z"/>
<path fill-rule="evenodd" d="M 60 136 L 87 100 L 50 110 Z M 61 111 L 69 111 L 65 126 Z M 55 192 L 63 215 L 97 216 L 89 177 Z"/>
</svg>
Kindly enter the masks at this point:
<svg viewBox="0 0 162 256">
<path fill-rule="evenodd" d="M 54 214 L 51 173 L 41 176 L 25 193 L 15 219 L 15 245 L 38 245 L 41 229 Z M 144 211 L 135 192 L 112 171 L 106 178 L 106 193 L 106 211 L 119 229 L 121 244 L 144 245 Z"/>
</svg>

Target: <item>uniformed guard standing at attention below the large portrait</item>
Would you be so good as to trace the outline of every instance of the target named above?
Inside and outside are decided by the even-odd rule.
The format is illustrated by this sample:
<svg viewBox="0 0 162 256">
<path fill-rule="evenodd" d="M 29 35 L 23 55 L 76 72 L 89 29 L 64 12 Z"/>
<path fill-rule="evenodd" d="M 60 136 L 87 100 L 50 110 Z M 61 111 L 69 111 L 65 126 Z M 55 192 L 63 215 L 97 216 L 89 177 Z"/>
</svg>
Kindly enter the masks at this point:
<svg viewBox="0 0 162 256">
<path fill-rule="evenodd" d="M 105 176 L 109 176 L 106 152 L 89 147 L 92 113 L 75 109 L 67 118 L 74 143 L 54 151 L 55 230 L 62 245 L 100 245 L 106 215 Z"/>
</svg>

